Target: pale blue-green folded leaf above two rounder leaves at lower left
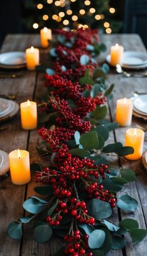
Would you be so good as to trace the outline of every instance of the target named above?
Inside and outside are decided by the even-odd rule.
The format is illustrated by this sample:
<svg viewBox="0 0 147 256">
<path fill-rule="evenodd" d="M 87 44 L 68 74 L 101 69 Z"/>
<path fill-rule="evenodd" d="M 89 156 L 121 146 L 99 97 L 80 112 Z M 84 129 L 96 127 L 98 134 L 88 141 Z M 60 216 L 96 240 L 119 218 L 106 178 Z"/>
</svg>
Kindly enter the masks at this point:
<svg viewBox="0 0 147 256">
<path fill-rule="evenodd" d="M 27 212 L 36 214 L 43 210 L 44 203 L 39 202 L 35 198 L 29 198 L 26 201 L 24 201 L 22 206 Z"/>
</svg>

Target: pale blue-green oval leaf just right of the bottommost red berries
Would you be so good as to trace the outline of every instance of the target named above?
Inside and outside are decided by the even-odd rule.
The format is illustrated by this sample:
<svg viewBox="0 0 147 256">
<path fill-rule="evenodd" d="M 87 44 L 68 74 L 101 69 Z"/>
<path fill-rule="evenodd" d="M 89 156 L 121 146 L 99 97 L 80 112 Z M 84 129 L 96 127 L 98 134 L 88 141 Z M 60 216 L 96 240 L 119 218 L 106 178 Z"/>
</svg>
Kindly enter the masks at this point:
<svg viewBox="0 0 147 256">
<path fill-rule="evenodd" d="M 105 241 L 105 232 L 103 230 L 94 230 L 88 237 L 88 245 L 90 248 L 100 248 Z"/>
</svg>

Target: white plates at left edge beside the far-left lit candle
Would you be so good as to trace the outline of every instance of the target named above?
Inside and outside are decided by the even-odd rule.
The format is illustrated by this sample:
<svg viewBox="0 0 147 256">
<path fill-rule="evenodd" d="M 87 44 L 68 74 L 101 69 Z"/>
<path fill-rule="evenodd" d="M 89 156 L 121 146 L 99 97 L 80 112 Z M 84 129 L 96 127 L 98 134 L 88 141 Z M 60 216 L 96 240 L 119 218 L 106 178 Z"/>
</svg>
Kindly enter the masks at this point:
<svg viewBox="0 0 147 256">
<path fill-rule="evenodd" d="M 26 54 L 23 51 L 11 51 L 0 54 L 0 64 L 8 66 L 18 66 L 26 64 Z"/>
</svg>

